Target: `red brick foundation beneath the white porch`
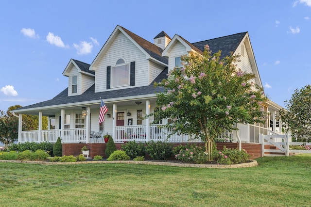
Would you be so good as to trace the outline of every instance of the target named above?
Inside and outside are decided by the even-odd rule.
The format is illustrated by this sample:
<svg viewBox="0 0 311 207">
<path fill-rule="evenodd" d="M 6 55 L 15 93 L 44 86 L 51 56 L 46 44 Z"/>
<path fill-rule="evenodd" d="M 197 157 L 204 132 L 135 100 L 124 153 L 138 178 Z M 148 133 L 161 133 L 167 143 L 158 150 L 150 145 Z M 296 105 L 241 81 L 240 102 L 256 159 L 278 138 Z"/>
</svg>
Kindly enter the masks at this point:
<svg viewBox="0 0 311 207">
<path fill-rule="evenodd" d="M 121 149 L 122 144 L 125 143 L 116 143 L 116 147 L 118 150 Z M 178 145 L 186 145 L 187 143 L 174 143 L 174 146 Z M 204 144 L 204 143 L 197 143 L 197 144 Z M 105 149 L 106 143 L 63 143 L 63 155 L 73 155 L 77 156 L 82 154 L 81 148 L 86 146 L 89 148 L 89 157 L 94 158 L 96 155 L 103 156 L 106 158 Z M 227 148 L 236 149 L 239 147 L 238 143 L 217 143 L 217 150 L 222 150 L 223 147 L 226 146 Z M 246 152 L 251 156 L 250 159 L 260 158 L 261 156 L 261 144 L 258 143 L 242 143 L 242 149 L 245 149 Z M 146 154 L 146 159 L 150 159 L 149 155 Z M 170 159 L 174 159 L 172 156 Z"/>
</svg>

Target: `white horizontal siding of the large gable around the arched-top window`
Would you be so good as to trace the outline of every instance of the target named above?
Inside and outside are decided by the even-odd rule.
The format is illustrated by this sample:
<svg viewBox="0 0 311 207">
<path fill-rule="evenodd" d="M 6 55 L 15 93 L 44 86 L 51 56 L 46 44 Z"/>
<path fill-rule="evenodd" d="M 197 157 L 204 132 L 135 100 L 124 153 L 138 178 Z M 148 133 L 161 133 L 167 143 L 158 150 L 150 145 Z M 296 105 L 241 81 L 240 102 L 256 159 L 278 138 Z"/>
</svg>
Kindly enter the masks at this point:
<svg viewBox="0 0 311 207">
<path fill-rule="evenodd" d="M 111 66 L 112 69 L 120 58 L 129 64 L 135 62 L 135 86 L 124 86 L 117 89 L 148 85 L 146 55 L 123 33 L 119 32 L 96 67 L 95 93 L 106 91 L 107 66 Z"/>
</svg>

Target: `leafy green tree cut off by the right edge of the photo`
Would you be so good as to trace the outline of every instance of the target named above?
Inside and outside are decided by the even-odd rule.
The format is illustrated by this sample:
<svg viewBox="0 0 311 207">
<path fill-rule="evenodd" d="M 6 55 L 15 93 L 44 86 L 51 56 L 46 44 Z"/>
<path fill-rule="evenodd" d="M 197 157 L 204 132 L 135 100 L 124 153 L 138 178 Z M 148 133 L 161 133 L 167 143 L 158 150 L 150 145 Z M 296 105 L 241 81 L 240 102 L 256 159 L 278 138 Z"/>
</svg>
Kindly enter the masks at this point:
<svg viewBox="0 0 311 207">
<path fill-rule="evenodd" d="M 311 85 L 296 89 L 279 117 L 287 125 L 287 131 L 300 142 L 311 140 Z"/>
</svg>

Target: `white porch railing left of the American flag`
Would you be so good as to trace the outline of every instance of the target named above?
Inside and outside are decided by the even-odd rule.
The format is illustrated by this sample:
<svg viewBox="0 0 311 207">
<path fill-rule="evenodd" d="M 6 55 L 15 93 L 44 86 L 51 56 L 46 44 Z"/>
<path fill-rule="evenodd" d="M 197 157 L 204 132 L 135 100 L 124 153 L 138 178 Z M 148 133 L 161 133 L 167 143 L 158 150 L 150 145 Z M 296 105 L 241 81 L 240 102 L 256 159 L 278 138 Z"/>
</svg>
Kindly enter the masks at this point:
<svg viewBox="0 0 311 207">
<path fill-rule="evenodd" d="M 21 131 L 20 143 L 25 142 L 52 142 L 55 143 L 57 138 L 62 139 L 62 143 L 85 143 L 86 142 L 86 128 L 66 128 L 63 129 L 49 129 L 41 130 L 39 136 L 39 130 Z"/>
</svg>

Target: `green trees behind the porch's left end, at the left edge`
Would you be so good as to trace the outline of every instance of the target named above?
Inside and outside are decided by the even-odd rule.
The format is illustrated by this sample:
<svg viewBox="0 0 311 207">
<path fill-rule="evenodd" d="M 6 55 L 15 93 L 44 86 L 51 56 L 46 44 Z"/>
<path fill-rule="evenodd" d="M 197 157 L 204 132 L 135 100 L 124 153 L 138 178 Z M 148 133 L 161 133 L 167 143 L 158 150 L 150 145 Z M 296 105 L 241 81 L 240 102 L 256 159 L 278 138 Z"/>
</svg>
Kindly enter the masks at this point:
<svg viewBox="0 0 311 207">
<path fill-rule="evenodd" d="M 18 138 L 18 118 L 10 111 L 21 108 L 20 105 L 10 106 L 8 111 L 0 110 L 0 142 L 5 145 L 17 141 Z M 39 117 L 23 114 L 22 130 L 37 130 Z M 42 117 L 42 129 L 48 129 L 48 118 Z"/>
</svg>

